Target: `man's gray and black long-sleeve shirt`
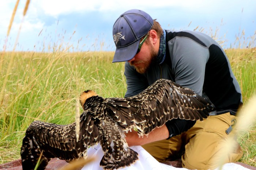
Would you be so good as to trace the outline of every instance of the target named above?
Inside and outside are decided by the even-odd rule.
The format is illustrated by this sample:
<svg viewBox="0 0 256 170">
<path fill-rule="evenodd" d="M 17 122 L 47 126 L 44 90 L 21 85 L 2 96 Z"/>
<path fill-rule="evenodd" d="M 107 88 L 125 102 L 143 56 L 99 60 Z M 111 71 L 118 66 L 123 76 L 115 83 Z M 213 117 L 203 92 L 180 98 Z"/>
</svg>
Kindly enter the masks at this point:
<svg viewBox="0 0 256 170">
<path fill-rule="evenodd" d="M 225 52 L 215 40 L 201 32 L 166 30 L 166 48 L 164 62 L 152 66 L 145 74 L 125 63 L 125 97 L 134 96 L 159 78 L 165 78 L 210 100 L 217 114 L 236 115 L 242 103 L 241 90 Z"/>
</svg>

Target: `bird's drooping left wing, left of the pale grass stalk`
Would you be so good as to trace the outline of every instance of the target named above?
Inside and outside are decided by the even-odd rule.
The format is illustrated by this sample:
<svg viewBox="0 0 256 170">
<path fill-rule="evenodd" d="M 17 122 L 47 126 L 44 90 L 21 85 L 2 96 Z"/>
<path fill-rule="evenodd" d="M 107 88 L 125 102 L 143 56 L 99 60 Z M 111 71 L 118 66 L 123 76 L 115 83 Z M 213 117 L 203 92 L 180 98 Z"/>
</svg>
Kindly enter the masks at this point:
<svg viewBox="0 0 256 170">
<path fill-rule="evenodd" d="M 75 139 L 72 138 L 75 135 L 74 128 L 75 124 L 57 125 L 42 121 L 31 123 L 20 151 L 23 169 L 34 169 L 41 152 L 39 169 L 45 169 L 51 158 L 57 157 L 67 162 L 79 158 Z"/>
</svg>

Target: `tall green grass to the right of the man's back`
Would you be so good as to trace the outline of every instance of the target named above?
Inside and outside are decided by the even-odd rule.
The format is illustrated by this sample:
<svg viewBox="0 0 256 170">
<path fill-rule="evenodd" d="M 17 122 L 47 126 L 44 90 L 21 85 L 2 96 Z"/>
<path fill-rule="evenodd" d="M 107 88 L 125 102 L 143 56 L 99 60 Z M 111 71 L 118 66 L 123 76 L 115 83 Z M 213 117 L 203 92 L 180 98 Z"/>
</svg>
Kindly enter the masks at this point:
<svg viewBox="0 0 256 170">
<path fill-rule="evenodd" d="M 229 49 L 227 54 L 246 104 L 256 94 L 256 48 Z M 240 161 L 256 167 L 256 120 L 245 133 L 238 136 L 238 141 L 244 151 Z"/>
</svg>

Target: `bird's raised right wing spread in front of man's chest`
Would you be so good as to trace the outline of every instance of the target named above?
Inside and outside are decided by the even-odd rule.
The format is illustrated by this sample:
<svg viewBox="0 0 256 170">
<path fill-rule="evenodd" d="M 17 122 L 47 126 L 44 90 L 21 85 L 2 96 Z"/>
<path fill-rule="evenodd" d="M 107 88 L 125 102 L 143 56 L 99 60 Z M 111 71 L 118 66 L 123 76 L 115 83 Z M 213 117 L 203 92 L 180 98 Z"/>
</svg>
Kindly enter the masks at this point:
<svg viewBox="0 0 256 170">
<path fill-rule="evenodd" d="M 136 96 L 109 98 L 106 108 L 120 127 L 147 135 L 171 119 L 203 120 L 214 106 L 189 88 L 159 79 Z"/>
</svg>

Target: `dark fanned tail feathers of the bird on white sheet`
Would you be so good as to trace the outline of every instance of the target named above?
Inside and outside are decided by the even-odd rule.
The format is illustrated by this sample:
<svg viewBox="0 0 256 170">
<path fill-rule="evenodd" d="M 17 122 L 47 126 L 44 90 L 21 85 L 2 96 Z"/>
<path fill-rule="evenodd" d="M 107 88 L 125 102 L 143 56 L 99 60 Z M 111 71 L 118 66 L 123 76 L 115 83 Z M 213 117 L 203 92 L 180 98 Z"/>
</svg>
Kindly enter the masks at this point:
<svg viewBox="0 0 256 170">
<path fill-rule="evenodd" d="M 138 153 L 130 148 L 127 148 L 121 161 L 115 161 L 111 155 L 105 154 L 101 159 L 100 165 L 104 169 L 118 169 L 120 167 L 129 166 L 138 160 Z"/>
</svg>

